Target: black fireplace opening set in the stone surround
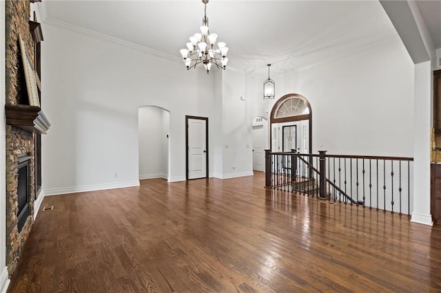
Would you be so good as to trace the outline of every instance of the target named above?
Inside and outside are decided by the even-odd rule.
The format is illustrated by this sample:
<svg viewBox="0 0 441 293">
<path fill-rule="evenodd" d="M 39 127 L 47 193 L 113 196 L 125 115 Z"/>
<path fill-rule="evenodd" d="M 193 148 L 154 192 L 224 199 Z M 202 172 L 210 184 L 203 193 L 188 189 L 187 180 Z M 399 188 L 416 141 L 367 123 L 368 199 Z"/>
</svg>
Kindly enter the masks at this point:
<svg viewBox="0 0 441 293">
<path fill-rule="evenodd" d="M 29 216 L 29 193 L 30 193 L 30 168 L 29 168 L 30 156 L 23 154 L 19 156 L 19 184 L 17 186 L 17 202 L 18 208 L 18 228 L 19 232 L 25 225 L 26 219 Z"/>
</svg>

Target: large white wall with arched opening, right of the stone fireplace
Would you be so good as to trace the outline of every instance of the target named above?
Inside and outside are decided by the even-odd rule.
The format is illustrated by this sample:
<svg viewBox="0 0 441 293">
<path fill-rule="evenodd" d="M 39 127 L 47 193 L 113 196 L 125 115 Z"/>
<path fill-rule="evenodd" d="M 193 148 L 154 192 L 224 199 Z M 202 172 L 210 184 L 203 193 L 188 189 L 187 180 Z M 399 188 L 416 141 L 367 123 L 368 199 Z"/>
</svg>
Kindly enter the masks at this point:
<svg viewBox="0 0 441 293">
<path fill-rule="evenodd" d="M 43 31 L 43 107 L 52 124 L 43 136 L 45 194 L 139 184 L 145 105 L 170 110 L 170 181 L 185 180 L 185 115 L 213 118 L 212 75 L 53 25 Z"/>
</svg>

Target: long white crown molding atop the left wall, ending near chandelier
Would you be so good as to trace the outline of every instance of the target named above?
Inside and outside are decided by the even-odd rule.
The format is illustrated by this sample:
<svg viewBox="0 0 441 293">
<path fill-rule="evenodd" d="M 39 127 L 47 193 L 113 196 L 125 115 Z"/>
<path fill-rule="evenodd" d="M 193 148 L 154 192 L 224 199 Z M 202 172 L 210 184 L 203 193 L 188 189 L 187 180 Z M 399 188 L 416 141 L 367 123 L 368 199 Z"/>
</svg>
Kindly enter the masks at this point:
<svg viewBox="0 0 441 293">
<path fill-rule="evenodd" d="M 57 28 L 61 28 L 63 30 L 69 30 L 70 32 L 76 32 L 78 34 L 83 34 L 85 36 L 90 36 L 94 39 L 99 39 L 101 41 L 107 41 L 110 43 L 114 43 L 116 45 L 121 45 L 123 47 L 128 47 L 132 50 L 136 50 L 139 52 L 147 53 L 152 56 L 156 56 L 159 58 L 167 59 L 169 61 L 175 61 L 178 63 L 182 63 L 182 59 L 178 56 L 173 56 L 170 54 L 166 54 L 157 50 L 153 50 L 149 47 L 144 47 L 142 45 L 138 45 L 129 41 L 124 41 L 122 39 L 116 38 L 114 36 L 109 36 L 108 34 L 101 34 L 101 32 L 96 32 L 94 30 L 88 30 L 78 25 L 73 25 L 72 23 L 66 23 L 64 21 L 60 21 L 59 19 L 53 19 L 52 17 L 46 17 L 43 21 L 45 25 L 52 25 Z"/>
</svg>

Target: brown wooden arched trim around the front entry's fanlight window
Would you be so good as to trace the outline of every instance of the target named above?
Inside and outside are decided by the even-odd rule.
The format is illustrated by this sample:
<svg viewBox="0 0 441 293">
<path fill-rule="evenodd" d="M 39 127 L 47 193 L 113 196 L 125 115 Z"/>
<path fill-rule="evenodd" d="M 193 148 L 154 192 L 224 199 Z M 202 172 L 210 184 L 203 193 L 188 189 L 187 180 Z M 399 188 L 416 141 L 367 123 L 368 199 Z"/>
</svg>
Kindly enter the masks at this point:
<svg viewBox="0 0 441 293">
<path fill-rule="evenodd" d="M 302 114 L 302 115 L 296 115 L 296 116 L 288 116 L 283 118 L 275 118 L 276 111 L 278 111 L 280 105 L 282 105 L 284 102 L 291 98 L 300 98 L 305 102 L 309 109 L 309 114 Z M 312 153 L 312 110 L 311 105 L 309 104 L 309 101 L 307 98 L 300 94 L 286 94 L 282 98 L 279 98 L 277 102 L 274 104 L 273 108 L 271 109 L 271 115 L 269 116 L 269 140 L 272 140 L 272 124 L 273 123 L 282 123 L 282 122 L 296 122 L 300 120 L 309 120 L 309 153 Z M 271 151 L 272 150 L 272 144 L 271 144 Z"/>
</svg>

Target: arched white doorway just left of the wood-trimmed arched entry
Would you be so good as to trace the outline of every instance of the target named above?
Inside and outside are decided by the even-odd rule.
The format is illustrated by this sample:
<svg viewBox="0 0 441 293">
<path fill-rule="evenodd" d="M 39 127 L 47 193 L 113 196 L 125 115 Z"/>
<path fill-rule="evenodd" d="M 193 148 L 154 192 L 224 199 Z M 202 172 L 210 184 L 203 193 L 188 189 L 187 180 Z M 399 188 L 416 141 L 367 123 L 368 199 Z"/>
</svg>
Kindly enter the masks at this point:
<svg viewBox="0 0 441 293">
<path fill-rule="evenodd" d="M 268 121 L 253 118 L 253 171 L 265 172 L 265 149 L 268 149 Z"/>
</svg>

